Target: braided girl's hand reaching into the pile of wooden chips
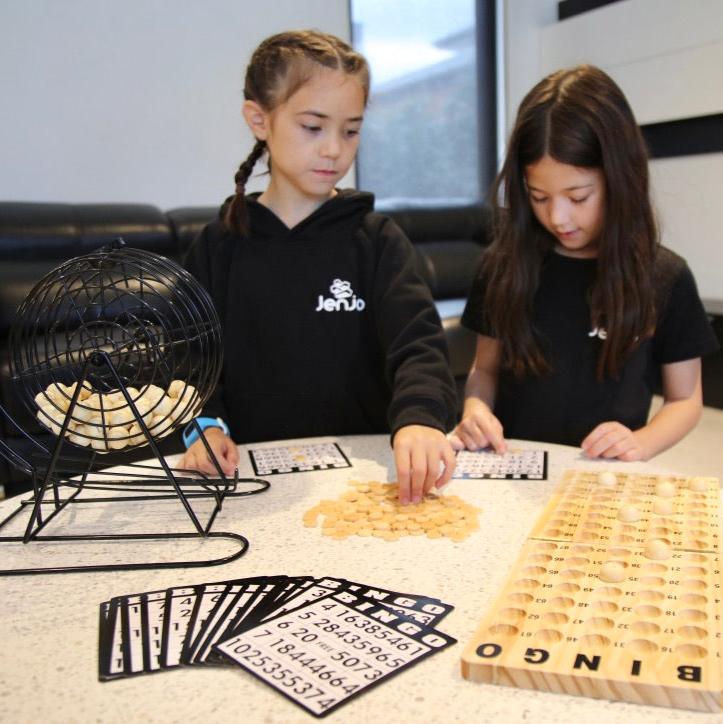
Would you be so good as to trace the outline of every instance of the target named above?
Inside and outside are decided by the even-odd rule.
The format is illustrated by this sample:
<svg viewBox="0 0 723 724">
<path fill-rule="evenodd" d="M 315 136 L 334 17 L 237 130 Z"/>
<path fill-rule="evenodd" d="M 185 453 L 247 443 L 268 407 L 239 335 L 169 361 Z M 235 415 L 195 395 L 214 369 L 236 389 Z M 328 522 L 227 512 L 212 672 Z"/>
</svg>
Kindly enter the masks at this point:
<svg viewBox="0 0 723 724">
<path fill-rule="evenodd" d="M 393 448 L 402 505 L 418 503 L 433 487 L 441 488 L 452 477 L 454 450 L 445 434 L 433 427 L 400 427 Z"/>
</svg>

